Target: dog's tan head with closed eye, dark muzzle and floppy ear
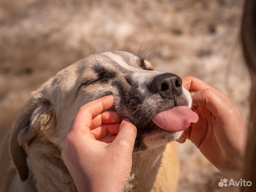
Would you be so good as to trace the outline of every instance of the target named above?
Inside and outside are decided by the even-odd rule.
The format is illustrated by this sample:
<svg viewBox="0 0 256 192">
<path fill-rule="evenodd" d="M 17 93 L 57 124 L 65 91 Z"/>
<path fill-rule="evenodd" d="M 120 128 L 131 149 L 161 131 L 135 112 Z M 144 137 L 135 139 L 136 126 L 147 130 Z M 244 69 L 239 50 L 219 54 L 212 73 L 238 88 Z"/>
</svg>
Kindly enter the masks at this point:
<svg viewBox="0 0 256 192">
<path fill-rule="evenodd" d="M 11 154 L 23 181 L 28 177 L 25 151 L 38 142 L 52 143 L 61 151 L 79 108 L 106 95 L 114 95 L 113 110 L 137 127 L 134 151 L 177 140 L 182 132 L 161 129 L 152 119 L 192 103 L 179 76 L 154 71 L 148 61 L 133 54 L 106 52 L 80 60 L 33 92 L 15 124 Z"/>
</svg>

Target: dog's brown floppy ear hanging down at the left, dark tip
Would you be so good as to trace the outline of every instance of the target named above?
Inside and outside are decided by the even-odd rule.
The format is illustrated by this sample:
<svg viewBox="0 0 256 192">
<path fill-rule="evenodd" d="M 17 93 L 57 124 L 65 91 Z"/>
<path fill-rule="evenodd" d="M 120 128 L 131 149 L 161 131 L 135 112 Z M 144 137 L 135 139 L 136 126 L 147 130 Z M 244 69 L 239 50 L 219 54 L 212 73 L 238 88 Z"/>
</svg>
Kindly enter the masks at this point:
<svg viewBox="0 0 256 192">
<path fill-rule="evenodd" d="M 21 181 L 26 181 L 29 174 L 24 147 L 30 145 L 42 128 L 49 128 L 54 124 L 52 103 L 42 98 L 39 92 L 33 92 L 33 96 L 23 107 L 11 135 L 11 156 Z"/>
</svg>

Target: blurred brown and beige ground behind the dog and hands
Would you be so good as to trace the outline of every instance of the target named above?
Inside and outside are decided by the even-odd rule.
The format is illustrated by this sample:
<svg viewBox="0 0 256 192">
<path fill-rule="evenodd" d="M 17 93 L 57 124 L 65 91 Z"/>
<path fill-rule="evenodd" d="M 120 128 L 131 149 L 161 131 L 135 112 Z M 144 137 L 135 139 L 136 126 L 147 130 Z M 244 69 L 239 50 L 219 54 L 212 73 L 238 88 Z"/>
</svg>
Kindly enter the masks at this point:
<svg viewBox="0 0 256 192">
<path fill-rule="evenodd" d="M 137 54 L 155 70 L 195 76 L 228 94 L 248 118 L 250 80 L 241 55 L 243 0 L 0 0 L 0 141 L 22 106 L 59 70 L 106 51 Z M 207 191 L 220 175 L 179 144 L 178 191 Z M 216 184 L 215 184 L 216 183 Z"/>
</svg>

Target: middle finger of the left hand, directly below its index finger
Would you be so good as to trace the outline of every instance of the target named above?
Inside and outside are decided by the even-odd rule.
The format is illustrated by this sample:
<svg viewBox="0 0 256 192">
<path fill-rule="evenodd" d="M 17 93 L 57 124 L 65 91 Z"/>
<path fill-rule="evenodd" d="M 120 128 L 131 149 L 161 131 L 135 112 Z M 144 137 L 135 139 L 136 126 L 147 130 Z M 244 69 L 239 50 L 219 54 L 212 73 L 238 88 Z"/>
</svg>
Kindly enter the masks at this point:
<svg viewBox="0 0 256 192">
<path fill-rule="evenodd" d="M 102 124 L 117 123 L 121 121 L 121 118 L 118 116 L 115 111 L 103 111 L 92 119 L 90 129 L 101 126 Z"/>
</svg>

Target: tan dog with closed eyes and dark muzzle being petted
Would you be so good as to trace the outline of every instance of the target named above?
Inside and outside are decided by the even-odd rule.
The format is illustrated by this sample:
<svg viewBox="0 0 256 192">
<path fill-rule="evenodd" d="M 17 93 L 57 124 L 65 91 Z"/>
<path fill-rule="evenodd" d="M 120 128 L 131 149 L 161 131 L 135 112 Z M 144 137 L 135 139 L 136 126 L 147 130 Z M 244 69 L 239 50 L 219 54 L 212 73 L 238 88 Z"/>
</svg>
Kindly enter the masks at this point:
<svg viewBox="0 0 256 192">
<path fill-rule="evenodd" d="M 179 76 L 154 71 L 138 55 L 106 52 L 66 67 L 32 92 L 2 145 L 0 191 L 77 191 L 61 158 L 65 138 L 79 108 L 107 95 L 114 96 L 112 110 L 138 130 L 124 191 L 152 190 L 166 145 L 182 135 L 152 119 L 175 106 L 191 107 L 192 98 Z M 177 162 L 174 156 L 170 161 Z M 169 165 L 176 173 L 178 164 Z"/>
</svg>

